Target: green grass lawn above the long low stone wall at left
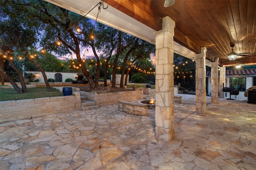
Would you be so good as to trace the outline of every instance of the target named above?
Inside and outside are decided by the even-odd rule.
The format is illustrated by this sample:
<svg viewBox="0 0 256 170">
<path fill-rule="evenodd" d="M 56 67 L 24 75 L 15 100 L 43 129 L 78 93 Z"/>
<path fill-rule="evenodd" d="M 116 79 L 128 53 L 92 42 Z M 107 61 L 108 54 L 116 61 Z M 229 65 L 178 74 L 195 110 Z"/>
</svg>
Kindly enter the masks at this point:
<svg viewBox="0 0 256 170">
<path fill-rule="evenodd" d="M 46 87 L 27 88 L 27 92 L 23 94 L 18 94 L 14 88 L 0 89 L 0 101 L 34 99 L 55 96 L 63 96 L 63 93 L 59 92 L 55 88 L 52 88 L 52 92 L 48 92 Z"/>
</svg>

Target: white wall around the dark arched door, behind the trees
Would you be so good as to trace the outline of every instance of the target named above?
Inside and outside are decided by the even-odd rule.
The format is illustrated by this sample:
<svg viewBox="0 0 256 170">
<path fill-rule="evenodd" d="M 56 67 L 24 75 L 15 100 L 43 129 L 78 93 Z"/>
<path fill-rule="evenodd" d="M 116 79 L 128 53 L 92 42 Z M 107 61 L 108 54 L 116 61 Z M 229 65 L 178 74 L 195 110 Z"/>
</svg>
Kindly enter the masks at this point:
<svg viewBox="0 0 256 170">
<path fill-rule="evenodd" d="M 25 71 L 25 72 L 26 73 L 31 72 L 33 74 L 36 74 L 36 79 L 39 79 L 40 80 L 39 82 L 44 82 L 44 77 L 42 72 L 40 71 Z M 54 80 L 55 80 L 54 75 L 56 73 L 62 74 L 62 82 L 65 82 L 67 78 L 72 78 L 72 80 L 76 80 L 76 76 L 77 76 L 77 72 L 49 72 L 49 71 L 45 72 L 47 79 L 52 78 Z"/>
</svg>

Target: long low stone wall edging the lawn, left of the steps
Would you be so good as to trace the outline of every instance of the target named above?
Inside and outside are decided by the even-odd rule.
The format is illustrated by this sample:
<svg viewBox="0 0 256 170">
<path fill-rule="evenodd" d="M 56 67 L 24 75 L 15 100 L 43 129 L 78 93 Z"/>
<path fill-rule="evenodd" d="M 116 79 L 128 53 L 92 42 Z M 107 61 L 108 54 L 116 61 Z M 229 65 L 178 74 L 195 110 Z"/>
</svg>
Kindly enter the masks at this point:
<svg viewBox="0 0 256 170">
<path fill-rule="evenodd" d="M 79 92 L 73 92 L 72 96 L 3 101 L 0 102 L 0 123 L 76 109 L 81 109 Z"/>
</svg>

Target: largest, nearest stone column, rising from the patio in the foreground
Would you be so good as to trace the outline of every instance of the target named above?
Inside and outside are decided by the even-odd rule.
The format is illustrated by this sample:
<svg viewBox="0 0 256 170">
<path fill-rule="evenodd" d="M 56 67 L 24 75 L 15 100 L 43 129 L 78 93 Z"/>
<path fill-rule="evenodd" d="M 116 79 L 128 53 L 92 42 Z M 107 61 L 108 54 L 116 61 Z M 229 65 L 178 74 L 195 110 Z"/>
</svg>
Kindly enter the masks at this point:
<svg viewBox="0 0 256 170">
<path fill-rule="evenodd" d="M 175 22 L 163 18 L 162 30 L 156 35 L 156 138 L 174 139 L 173 36 Z"/>
</svg>

